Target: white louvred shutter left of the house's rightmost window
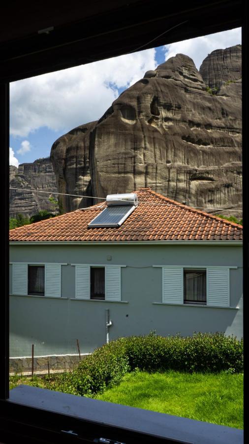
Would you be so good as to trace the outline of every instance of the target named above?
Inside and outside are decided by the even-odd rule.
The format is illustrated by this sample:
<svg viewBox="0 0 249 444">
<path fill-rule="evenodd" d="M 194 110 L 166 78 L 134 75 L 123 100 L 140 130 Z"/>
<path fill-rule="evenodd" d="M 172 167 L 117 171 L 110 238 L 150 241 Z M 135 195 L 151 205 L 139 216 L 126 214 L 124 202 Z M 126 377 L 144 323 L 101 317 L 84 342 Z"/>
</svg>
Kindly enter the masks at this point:
<svg viewBox="0 0 249 444">
<path fill-rule="evenodd" d="M 183 304 L 183 268 L 162 268 L 162 302 Z"/>
</svg>

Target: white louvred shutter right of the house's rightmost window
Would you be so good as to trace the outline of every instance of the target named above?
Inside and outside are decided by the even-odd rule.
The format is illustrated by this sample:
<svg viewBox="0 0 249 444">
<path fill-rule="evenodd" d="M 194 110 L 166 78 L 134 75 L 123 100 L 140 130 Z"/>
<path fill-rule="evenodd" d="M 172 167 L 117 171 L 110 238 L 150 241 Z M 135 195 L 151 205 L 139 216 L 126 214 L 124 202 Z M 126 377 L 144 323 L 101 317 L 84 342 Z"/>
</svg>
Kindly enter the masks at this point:
<svg viewBox="0 0 249 444">
<path fill-rule="evenodd" d="M 228 307 L 229 268 L 207 268 L 207 305 Z"/>
</svg>

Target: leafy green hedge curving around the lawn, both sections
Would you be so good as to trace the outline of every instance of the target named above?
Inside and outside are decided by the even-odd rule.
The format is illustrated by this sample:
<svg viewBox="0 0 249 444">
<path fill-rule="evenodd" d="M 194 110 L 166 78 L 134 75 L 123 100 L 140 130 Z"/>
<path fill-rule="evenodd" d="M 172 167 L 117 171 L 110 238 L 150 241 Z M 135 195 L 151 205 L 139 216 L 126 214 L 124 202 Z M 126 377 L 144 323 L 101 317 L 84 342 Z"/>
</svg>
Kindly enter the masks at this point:
<svg viewBox="0 0 249 444">
<path fill-rule="evenodd" d="M 50 388 L 94 396 L 135 369 L 239 373 L 243 371 L 243 340 L 224 333 L 121 337 L 96 349 L 75 370 L 60 375 Z"/>
</svg>

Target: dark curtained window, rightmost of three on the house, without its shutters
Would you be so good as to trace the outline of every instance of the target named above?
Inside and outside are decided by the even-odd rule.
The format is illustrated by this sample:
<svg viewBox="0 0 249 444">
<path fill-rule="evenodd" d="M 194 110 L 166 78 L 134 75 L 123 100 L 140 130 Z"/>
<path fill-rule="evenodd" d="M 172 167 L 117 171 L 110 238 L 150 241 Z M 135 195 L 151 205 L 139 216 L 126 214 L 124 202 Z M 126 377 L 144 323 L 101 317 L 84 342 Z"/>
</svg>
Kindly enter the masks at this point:
<svg viewBox="0 0 249 444">
<path fill-rule="evenodd" d="M 184 270 L 184 303 L 207 303 L 206 270 Z"/>
</svg>

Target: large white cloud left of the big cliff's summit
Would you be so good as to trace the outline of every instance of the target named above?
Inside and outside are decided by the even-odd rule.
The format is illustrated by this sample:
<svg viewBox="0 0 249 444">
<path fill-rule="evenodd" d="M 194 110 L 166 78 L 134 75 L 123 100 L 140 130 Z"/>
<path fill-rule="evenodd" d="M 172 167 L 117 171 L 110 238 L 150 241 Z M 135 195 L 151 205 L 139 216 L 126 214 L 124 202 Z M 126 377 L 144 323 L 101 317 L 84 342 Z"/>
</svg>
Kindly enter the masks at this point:
<svg viewBox="0 0 249 444">
<path fill-rule="evenodd" d="M 40 127 L 69 130 L 97 120 L 146 71 L 155 49 L 19 80 L 10 85 L 10 133 L 27 137 Z"/>
</svg>

